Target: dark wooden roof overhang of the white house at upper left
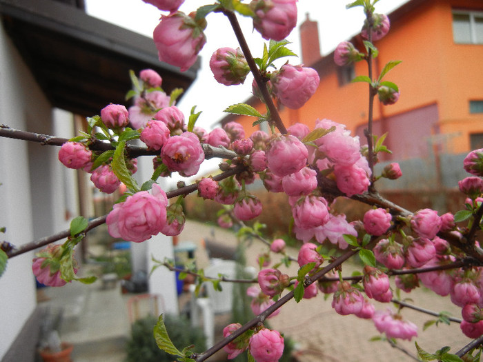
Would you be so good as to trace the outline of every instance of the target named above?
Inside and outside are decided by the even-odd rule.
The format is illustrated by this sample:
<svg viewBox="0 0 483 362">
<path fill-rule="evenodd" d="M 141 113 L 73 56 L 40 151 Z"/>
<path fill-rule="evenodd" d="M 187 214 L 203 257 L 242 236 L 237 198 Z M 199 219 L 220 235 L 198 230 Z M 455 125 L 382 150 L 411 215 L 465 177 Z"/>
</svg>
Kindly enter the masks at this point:
<svg viewBox="0 0 483 362">
<path fill-rule="evenodd" d="M 186 72 L 162 63 L 152 39 L 52 0 L 0 0 L 3 26 L 53 106 L 83 116 L 124 104 L 129 70 L 151 68 L 162 88 L 186 90 L 199 61 Z"/>
</svg>

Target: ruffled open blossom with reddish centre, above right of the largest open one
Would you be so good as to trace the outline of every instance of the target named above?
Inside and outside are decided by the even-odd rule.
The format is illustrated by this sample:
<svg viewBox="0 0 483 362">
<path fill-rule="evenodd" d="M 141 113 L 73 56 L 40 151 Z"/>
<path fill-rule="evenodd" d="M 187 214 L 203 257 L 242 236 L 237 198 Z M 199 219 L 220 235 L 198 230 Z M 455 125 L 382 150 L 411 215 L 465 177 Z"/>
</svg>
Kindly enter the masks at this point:
<svg viewBox="0 0 483 362">
<path fill-rule="evenodd" d="M 164 143 L 161 159 L 170 171 L 177 171 L 181 176 L 193 176 L 204 161 L 205 154 L 199 139 L 192 132 L 173 136 Z"/>
</svg>

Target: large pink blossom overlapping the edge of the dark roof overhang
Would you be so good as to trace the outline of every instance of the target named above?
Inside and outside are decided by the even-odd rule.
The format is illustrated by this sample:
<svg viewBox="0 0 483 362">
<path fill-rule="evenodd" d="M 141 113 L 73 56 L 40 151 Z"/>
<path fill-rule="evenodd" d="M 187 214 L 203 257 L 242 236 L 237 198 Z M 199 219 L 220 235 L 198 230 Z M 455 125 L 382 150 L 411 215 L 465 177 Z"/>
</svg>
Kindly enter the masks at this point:
<svg viewBox="0 0 483 362">
<path fill-rule="evenodd" d="M 181 72 L 193 66 L 206 43 L 203 29 L 183 12 L 161 16 L 152 37 L 159 60 L 179 67 Z"/>
</svg>

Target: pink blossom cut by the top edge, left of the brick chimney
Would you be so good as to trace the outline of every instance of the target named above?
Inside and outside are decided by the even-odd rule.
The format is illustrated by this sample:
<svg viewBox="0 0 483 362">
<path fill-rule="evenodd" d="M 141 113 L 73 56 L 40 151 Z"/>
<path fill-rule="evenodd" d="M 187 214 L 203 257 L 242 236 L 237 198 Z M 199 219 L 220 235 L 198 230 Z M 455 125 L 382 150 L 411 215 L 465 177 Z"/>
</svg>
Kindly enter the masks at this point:
<svg viewBox="0 0 483 362">
<path fill-rule="evenodd" d="M 285 39 L 297 25 L 297 0 L 254 0 L 253 28 L 266 40 Z"/>
</svg>

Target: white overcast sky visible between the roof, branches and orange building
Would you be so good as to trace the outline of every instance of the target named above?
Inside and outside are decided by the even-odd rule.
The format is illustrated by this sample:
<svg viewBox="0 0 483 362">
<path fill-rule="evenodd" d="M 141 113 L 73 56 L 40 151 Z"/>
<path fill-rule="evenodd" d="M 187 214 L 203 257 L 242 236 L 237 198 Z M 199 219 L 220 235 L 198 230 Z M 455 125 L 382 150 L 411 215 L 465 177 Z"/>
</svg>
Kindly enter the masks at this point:
<svg viewBox="0 0 483 362">
<path fill-rule="evenodd" d="M 381 0 L 376 5 L 376 11 L 388 13 L 407 1 Z M 206 2 L 186 0 L 180 10 L 189 13 L 201 5 L 213 2 L 208 0 Z M 364 21 L 362 8 L 346 10 L 345 5 L 348 2 L 350 1 L 299 0 L 297 3 L 298 25 L 306 19 L 306 13 L 309 13 L 311 20 L 317 20 L 319 23 L 322 54 L 330 53 L 340 41 L 348 39 L 351 35 L 359 32 L 362 27 L 362 21 Z M 159 10 L 141 0 L 86 0 L 86 4 L 87 12 L 93 17 L 115 23 L 148 37 L 152 37 L 152 30 L 159 23 Z M 193 86 L 190 87 L 177 105 L 184 112 L 185 117 L 189 114 L 193 105 L 197 105 L 197 111 L 203 111 L 197 125 L 210 130 L 213 123 L 226 115 L 223 110 L 228 105 L 240 103 L 250 97 L 250 85 L 253 78 L 249 76 L 242 86 L 230 87 L 223 86 L 215 81 L 208 65 L 211 54 L 224 46 L 237 48 L 238 44 L 224 15 L 209 14 L 207 21 L 208 27 L 205 33 L 208 42 L 200 53 L 201 69 Z M 260 57 L 264 39 L 258 32 L 252 31 L 253 26 L 250 19 L 242 18 L 239 21 L 245 30 L 253 55 Z M 288 47 L 295 53 L 300 54 L 298 26 L 287 39 L 292 42 Z M 282 59 L 279 65 L 283 64 L 287 59 Z M 296 58 L 290 59 L 292 64 L 299 64 L 300 62 Z"/>
</svg>

